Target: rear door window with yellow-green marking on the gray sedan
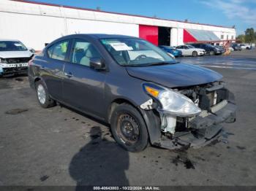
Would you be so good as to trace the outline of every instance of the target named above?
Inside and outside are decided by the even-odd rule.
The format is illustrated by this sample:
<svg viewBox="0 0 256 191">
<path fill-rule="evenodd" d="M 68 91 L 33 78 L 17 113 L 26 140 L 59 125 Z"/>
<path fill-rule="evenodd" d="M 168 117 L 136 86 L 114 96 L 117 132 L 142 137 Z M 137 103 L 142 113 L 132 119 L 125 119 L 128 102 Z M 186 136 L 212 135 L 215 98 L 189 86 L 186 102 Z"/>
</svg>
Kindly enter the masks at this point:
<svg viewBox="0 0 256 191">
<path fill-rule="evenodd" d="M 69 45 L 69 40 L 64 40 L 57 42 L 48 48 L 49 58 L 53 58 L 59 61 L 64 61 L 67 55 L 67 47 Z"/>
</svg>

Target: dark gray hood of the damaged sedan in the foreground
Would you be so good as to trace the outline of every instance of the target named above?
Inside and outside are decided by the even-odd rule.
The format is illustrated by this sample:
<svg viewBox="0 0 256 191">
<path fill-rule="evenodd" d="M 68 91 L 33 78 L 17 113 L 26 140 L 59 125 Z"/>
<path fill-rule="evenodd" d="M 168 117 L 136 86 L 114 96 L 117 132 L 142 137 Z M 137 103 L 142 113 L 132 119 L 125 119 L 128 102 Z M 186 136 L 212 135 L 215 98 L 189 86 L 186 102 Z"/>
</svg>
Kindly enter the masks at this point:
<svg viewBox="0 0 256 191">
<path fill-rule="evenodd" d="M 222 75 L 216 71 L 186 63 L 126 68 L 132 77 L 165 87 L 202 85 L 222 79 Z"/>
</svg>

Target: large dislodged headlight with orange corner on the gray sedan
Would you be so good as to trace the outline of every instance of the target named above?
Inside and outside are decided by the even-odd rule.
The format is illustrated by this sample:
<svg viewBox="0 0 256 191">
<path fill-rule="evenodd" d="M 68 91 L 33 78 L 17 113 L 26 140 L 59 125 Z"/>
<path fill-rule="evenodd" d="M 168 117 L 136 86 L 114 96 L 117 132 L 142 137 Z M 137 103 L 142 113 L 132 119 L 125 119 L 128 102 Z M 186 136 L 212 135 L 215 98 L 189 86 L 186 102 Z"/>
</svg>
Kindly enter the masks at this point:
<svg viewBox="0 0 256 191">
<path fill-rule="evenodd" d="M 174 90 L 149 83 L 143 84 L 143 89 L 159 101 L 159 111 L 180 117 L 192 117 L 201 112 L 191 99 Z"/>
</svg>

